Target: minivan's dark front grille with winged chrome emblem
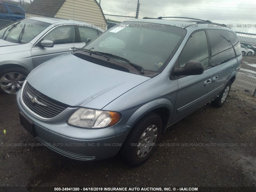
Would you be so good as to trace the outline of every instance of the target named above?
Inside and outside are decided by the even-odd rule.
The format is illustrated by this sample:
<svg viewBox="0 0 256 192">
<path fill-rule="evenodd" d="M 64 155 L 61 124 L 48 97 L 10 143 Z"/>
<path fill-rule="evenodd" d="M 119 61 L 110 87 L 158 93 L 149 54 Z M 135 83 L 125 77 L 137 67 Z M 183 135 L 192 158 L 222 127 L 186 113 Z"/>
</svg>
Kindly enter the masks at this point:
<svg viewBox="0 0 256 192">
<path fill-rule="evenodd" d="M 32 98 L 34 98 L 34 103 Z M 36 102 L 35 102 L 36 98 Z M 58 102 L 34 89 L 28 82 L 26 82 L 23 92 L 22 100 L 26 106 L 34 113 L 43 118 L 53 118 L 64 111 L 69 106 Z"/>
</svg>

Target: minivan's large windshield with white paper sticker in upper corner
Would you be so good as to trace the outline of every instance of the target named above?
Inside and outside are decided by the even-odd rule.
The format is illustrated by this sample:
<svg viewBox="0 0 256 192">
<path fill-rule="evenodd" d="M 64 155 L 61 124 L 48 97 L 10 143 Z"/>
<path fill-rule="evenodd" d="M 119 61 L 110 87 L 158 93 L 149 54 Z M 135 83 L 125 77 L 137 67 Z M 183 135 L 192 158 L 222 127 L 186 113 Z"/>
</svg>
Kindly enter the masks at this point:
<svg viewBox="0 0 256 192">
<path fill-rule="evenodd" d="M 128 21 L 110 28 L 83 48 L 108 53 L 115 60 L 124 58 L 119 59 L 120 62 L 128 61 L 144 70 L 160 72 L 185 35 L 185 29 L 171 25 Z"/>
</svg>

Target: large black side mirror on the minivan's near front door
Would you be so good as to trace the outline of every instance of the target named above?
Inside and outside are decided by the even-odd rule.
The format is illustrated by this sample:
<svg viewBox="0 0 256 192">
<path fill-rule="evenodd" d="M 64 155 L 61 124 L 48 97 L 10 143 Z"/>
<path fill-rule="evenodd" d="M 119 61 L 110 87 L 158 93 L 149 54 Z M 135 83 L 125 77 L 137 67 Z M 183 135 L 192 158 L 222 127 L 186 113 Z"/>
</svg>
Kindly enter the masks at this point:
<svg viewBox="0 0 256 192">
<path fill-rule="evenodd" d="M 200 75 L 204 72 L 204 65 L 198 61 L 188 61 L 184 67 L 174 68 L 174 75 Z"/>
</svg>

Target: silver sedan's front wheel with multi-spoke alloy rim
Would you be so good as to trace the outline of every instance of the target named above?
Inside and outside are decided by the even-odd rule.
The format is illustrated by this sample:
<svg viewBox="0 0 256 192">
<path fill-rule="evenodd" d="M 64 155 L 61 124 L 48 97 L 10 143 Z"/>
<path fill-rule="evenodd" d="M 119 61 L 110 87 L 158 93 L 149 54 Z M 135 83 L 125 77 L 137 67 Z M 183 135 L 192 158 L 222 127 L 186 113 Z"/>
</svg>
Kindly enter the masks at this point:
<svg viewBox="0 0 256 192">
<path fill-rule="evenodd" d="M 28 70 L 21 67 L 0 70 L 0 93 L 17 94 L 28 76 Z"/>
</svg>

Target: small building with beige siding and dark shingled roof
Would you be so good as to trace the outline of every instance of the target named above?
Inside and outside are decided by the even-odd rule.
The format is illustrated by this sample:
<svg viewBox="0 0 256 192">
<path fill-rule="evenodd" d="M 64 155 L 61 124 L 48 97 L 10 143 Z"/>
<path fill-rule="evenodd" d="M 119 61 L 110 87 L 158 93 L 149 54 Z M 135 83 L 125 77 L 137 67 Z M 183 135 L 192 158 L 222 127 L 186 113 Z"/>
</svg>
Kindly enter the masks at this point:
<svg viewBox="0 0 256 192">
<path fill-rule="evenodd" d="M 96 0 L 34 0 L 26 17 L 56 17 L 77 20 L 107 29 L 106 18 Z"/>
</svg>

